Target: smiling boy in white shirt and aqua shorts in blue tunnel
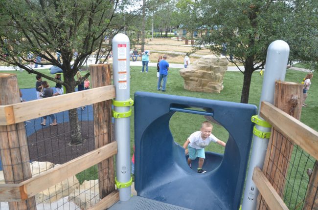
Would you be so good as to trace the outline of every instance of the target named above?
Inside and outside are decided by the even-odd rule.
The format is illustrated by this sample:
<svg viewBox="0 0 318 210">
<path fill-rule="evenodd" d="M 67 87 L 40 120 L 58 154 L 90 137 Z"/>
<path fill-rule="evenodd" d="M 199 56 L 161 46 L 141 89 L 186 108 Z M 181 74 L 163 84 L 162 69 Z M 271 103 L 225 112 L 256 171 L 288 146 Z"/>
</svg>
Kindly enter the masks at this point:
<svg viewBox="0 0 318 210">
<path fill-rule="evenodd" d="M 198 164 L 198 173 L 206 173 L 206 171 L 202 168 L 205 154 L 204 147 L 208 146 L 210 142 L 218 143 L 223 147 L 226 146 L 226 143 L 216 138 L 212 132 L 213 126 L 210 122 L 205 121 L 201 125 L 201 129 L 192 133 L 189 138 L 184 142 L 183 148 L 185 149 L 185 153 L 189 153 L 188 165 L 191 168 L 191 162 L 199 157 Z M 186 149 L 188 147 L 188 149 Z"/>
</svg>

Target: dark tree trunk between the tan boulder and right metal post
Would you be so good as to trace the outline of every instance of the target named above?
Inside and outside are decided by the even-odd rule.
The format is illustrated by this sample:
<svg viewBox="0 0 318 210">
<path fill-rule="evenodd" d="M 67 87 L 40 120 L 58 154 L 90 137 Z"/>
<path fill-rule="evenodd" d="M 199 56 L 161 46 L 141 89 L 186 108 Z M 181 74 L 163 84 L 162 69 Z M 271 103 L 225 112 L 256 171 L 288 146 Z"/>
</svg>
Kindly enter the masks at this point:
<svg viewBox="0 0 318 210">
<path fill-rule="evenodd" d="M 249 103 L 249 96 L 250 96 L 250 81 L 252 78 L 252 73 L 254 71 L 253 68 L 253 60 L 247 59 L 246 64 L 244 65 L 244 80 L 243 80 L 243 88 L 241 94 L 241 103 L 247 104 Z"/>
</svg>

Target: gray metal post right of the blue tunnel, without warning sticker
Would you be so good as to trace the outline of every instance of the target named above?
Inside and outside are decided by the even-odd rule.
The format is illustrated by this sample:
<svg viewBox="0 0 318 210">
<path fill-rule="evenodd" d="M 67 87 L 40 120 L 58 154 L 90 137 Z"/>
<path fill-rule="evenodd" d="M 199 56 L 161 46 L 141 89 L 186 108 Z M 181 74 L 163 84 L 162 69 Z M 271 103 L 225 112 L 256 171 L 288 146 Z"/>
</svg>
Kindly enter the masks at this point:
<svg viewBox="0 0 318 210">
<path fill-rule="evenodd" d="M 262 101 L 271 104 L 274 102 L 275 81 L 285 80 L 286 67 L 288 63 L 289 46 L 282 40 L 276 40 L 270 44 L 267 50 L 266 66 L 262 86 L 261 99 L 258 109 L 258 118 Z M 262 119 L 264 120 L 264 119 Z M 271 128 L 258 126 L 256 128 L 263 132 L 270 132 Z M 253 147 L 250 156 L 250 166 L 246 180 L 242 210 L 255 210 L 257 205 L 258 189 L 252 181 L 255 167 L 263 168 L 266 155 L 268 139 L 253 136 Z"/>
</svg>

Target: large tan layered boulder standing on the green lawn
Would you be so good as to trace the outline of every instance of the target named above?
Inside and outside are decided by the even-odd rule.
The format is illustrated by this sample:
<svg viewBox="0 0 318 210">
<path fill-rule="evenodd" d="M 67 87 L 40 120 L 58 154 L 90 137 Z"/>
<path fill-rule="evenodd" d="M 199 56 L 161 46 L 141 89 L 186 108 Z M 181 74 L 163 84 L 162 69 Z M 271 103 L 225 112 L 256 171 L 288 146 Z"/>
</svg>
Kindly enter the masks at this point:
<svg viewBox="0 0 318 210">
<path fill-rule="evenodd" d="M 220 93 L 228 61 L 225 56 L 206 55 L 180 70 L 184 89 L 196 92 Z"/>
</svg>

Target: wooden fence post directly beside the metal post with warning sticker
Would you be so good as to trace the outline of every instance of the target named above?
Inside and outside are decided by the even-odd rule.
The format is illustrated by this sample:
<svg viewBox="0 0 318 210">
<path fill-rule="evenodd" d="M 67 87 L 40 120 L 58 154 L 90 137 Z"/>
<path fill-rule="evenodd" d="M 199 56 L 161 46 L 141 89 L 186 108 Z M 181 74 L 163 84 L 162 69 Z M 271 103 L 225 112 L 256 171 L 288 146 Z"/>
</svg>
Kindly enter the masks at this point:
<svg viewBox="0 0 318 210">
<path fill-rule="evenodd" d="M 92 87 L 111 85 L 111 71 L 107 64 L 90 65 Z M 112 101 L 93 105 L 95 148 L 112 142 Z M 102 199 L 115 190 L 114 159 L 98 164 L 99 197 Z"/>
</svg>

